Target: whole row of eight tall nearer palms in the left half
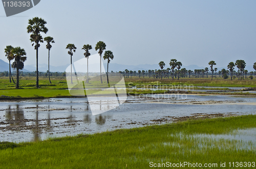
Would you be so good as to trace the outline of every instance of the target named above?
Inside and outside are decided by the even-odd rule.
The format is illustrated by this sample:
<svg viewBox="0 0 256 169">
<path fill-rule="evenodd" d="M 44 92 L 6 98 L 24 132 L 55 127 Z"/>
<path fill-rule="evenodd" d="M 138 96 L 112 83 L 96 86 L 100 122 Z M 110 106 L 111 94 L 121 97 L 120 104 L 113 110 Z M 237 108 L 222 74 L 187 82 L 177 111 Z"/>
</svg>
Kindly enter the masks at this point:
<svg viewBox="0 0 256 169">
<path fill-rule="evenodd" d="M 40 43 L 43 43 L 44 41 L 47 43 L 46 44 L 46 48 L 48 49 L 48 76 L 49 76 L 49 82 L 51 82 L 50 79 L 50 50 L 52 48 L 52 43 L 55 43 L 54 39 L 50 36 L 45 37 L 44 39 L 41 36 L 41 33 L 45 33 L 47 34 L 48 29 L 46 27 L 47 22 L 42 19 L 42 18 L 38 18 L 38 17 L 34 17 L 32 19 L 29 19 L 28 21 L 28 26 L 27 26 L 27 33 L 31 34 L 30 35 L 30 41 L 32 43 L 32 46 L 34 46 L 34 49 L 36 50 L 36 88 L 39 88 L 39 78 L 38 78 L 38 48 L 40 47 Z M 101 54 L 103 53 L 103 50 L 105 50 L 105 43 L 102 41 L 99 41 L 96 44 L 95 50 L 99 50 L 98 53 L 100 55 L 100 72 L 101 72 Z M 69 49 L 68 53 L 70 54 L 70 58 L 71 58 L 71 83 L 73 83 L 72 80 L 72 56 L 74 54 L 74 52 L 76 51 L 76 47 L 74 44 L 68 44 L 66 49 Z M 87 58 L 87 82 L 89 82 L 89 73 L 88 73 L 88 59 L 89 56 L 91 55 L 89 50 L 92 49 L 92 46 L 87 44 L 87 45 L 83 45 L 82 49 L 85 51 L 84 52 L 84 57 Z M 20 47 L 16 47 L 13 48 L 12 46 L 6 46 L 5 48 L 5 53 L 6 53 L 6 57 L 9 60 L 9 76 L 10 76 L 10 82 L 11 82 L 11 78 L 12 78 L 12 74 L 11 74 L 11 60 L 15 59 L 15 61 L 12 63 L 12 68 L 16 69 L 16 88 L 18 89 L 18 71 L 22 70 L 24 68 L 24 62 L 26 61 L 27 57 L 24 57 L 24 55 L 26 55 L 26 52 L 24 49 L 20 48 Z M 103 59 L 104 60 L 108 60 L 108 70 L 109 70 L 109 63 L 110 60 L 113 60 L 114 55 L 113 52 L 108 50 L 105 51 Z M 109 83 L 109 77 L 108 77 L 108 71 L 107 71 L 107 79 L 108 79 L 108 83 Z M 13 80 L 13 78 L 12 78 Z M 100 81 L 102 83 L 102 77 L 101 77 L 101 73 L 100 73 Z M 14 82 L 14 80 L 13 80 Z M 15 82 L 14 82 L 15 83 Z"/>
</svg>

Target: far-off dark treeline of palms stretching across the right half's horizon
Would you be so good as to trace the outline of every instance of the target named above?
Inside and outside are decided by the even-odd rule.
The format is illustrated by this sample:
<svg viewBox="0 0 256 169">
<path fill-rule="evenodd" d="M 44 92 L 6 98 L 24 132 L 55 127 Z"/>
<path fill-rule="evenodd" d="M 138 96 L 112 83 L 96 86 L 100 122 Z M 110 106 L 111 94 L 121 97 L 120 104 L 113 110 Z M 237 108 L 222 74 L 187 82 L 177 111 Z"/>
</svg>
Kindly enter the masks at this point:
<svg viewBox="0 0 256 169">
<path fill-rule="evenodd" d="M 210 68 L 206 67 L 205 69 L 195 69 L 195 70 L 187 70 L 186 68 L 181 68 L 182 63 L 178 62 L 176 59 L 170 60 L 170 68 L 163 69 L 165 67 L 165 63 L 163 61 L 159 62 L 160 69 L 155 70 L 127 70 L 119 71 L 119 73 L 122 73 L 123 76 L 132 77 L 132 76 L 139 76 L 140 77 L 152 77 L 152 78 L 180 78 L 180 77 L 194 77 L 194 78 L 208 78 L 208 75 L 211 76 L 211 79 L 213 77 L 217 78 L 223 77 L 224 79 L 227 78 L 238 78 L 239 80 L 247 78 L 247 75 L 249 75 L 249 78 L 253 78 L 253 75 L 256 76 L 256 71 L 248 72 L 248 70 L 245 69 L 246 63 L 244 60 L 237 60 L 235 63 L 230 62 L 227 65 L 227 69 L 222 69 L 218 71 L 218 68 L 214 68 L 214 65 L 216 65 L 215 61 L 210 61 L 208 65 Z M 235 67 L 238 68 L 238 70 L 234 70 Z M 256 70 L 256 63 L 253 64 L 253 69 Z"/>
</svg>

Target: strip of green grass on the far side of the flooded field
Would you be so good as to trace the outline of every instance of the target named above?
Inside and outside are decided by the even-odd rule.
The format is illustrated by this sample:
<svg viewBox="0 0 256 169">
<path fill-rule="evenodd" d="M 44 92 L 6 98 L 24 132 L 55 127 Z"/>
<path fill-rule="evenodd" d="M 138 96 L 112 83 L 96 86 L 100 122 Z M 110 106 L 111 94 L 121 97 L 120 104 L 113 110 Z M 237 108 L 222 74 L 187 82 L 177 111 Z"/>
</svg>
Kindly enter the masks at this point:
<svg viewBox="0 0 256 169">
<path fill-rule="evenodd" d="M 105 78 L 105 77 L 103 77 Z M 111 86 L 114 85 L 118 80 L 120 80 L 119 77 L 112 77 L 113 81 L 110 84 Z M 89 83 L 80 83 L 75 88 L 83 88 L 83 85 L 85 88 L 108 88 L 108 85 L 106 83 L 100 84 L 99 77 L 94 78 L 94 81 L 91 80 Z M 39 86 L 40 89 L 35 88 L 35 77 L 20 77 L 20 89 L 15 89 L 15 85 L 13 83 L 9 82 L 8 77 L 1 77 L 0 79 L 0 96 L 9 96 L 11 98 L 9 99 L 15 99 L 15 98 L 51 98 L 51 97 L 71 97 L 66 81 L 66 77 L 52 77 L 51 78 L 52 84 L 49 83 L 49 79 L 46 77 L 39 77 Z M 170 86 L 179 86 L 179 88 L 191 88 L 191 86 L 219 86 L 219 87 L 255 87 L 256 82 L 255 80 L 242 80 L 239 81 L 238 79 L 234 80 L 228 80 L 228 79 L 222 79 L 222 78 L 214 78 L 212 81 L 210 78 L 181 78 L 180 80 L 172 80 L 168 78 L 161 79 L 155 79 L 155 78 L 138 78 L 138 77 L 132 77 L 132 78 L 125 78 L 125 84 L 127 88 L 131 87 L 142 87 L 147 90 L 127 90 L 127 94 L 131 95 L 140 95 L 140 94 L 163 94 L 166 91 L 164 90 L 158 90 L 158 91 L 151 91 L 151 88 L 157 88 L 161 85 L 162 88 L 170 88 Z M 194 87 L 194 90 L 201 89 L 201 90 L 228 90 L 228 89 L 222 89 L 222 88 L 198 88 Z M 80 91 L 72 91 L 72 92 L 80 92 Z M 96 93 L 97 94 L 94 94 Z M 113 92 L 112 92 L 113 93 Z M 103 91 L 99 92 L 97 89 L 87 91 L 87 95 L 93 94 L 96 95 L 110 95 L 112 94 L 110 91 Z M 197 92 L 191 92 L 191 94 L 198 94 Z M 213 93 L 211 93 L 213 94 Z M 216 93 L 217 94 L 217 93 Z M 226 93 L 225 93 L 226 94 Z M 236 94 L 231 94 L 236 95 Z M 249 93 L 239 93 L 238 95 L 254 95 Z M 81 96 L 84 96 L 83 94 Z M 5 98 L 0 98 L 5 99 Z"/>
</svg>

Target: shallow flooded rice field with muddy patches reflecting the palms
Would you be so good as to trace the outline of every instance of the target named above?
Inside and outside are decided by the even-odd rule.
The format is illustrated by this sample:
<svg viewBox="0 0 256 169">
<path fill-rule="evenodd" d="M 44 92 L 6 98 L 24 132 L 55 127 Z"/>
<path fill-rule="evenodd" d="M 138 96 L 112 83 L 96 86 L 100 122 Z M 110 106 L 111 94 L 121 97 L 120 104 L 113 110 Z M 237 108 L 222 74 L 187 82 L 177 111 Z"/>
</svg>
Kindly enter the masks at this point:
<svg viewBox="0 0 256 169">
<path fill-rule="evenodd" d="M 0 141 L 30 142 L 80 133 L 172 123 L 195 118 L 256 113 L 256 98 L 159 94 L 128 96 L 112 109 L 111 97 L 52 98 L 0 102 Z M 105 101 L 108 100 L 108 101 Z M 91 109 L 106 112 L 92 116 Z"/>
</svg>

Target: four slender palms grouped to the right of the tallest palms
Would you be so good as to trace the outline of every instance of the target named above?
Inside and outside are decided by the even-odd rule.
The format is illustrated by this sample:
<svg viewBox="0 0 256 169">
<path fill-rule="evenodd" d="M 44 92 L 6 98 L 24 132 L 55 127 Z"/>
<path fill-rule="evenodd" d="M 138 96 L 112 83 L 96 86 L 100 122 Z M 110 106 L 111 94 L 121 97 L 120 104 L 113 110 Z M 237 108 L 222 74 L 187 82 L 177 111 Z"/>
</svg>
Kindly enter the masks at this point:
<svg viewBox="0 0 256 169">
<path fill-rule="evenodd" d="M 68 44 L 66 49 L 69 49 L 68 54 L 70 54 L 70 63 L 71 63 L 71 83 L 73 83 L 72 80 L 72 56 L 74 54 L 74 52 L 76 52 L 76 46 L 74 44 Z M 83 45 L 82 50 L 84 50 L 84 57 L 87 58 L 87 83 L 89 83 L 89 69 L 88 69 L 88 61 L 89 61 L 89 56 L 91 55 L 91 53 L 89 52 L 89 50 L 92 49 L 92 46 L 87 44 L 87 45 Z M 97 42 L 96 46 L 95 46 L 95 50 L 99 50 L 99 56 L 100 56 L 100 82 L 102 83 L 102 77 L 101 77 L 101 55 L 103 53 L 103 50 L 106 49 L 106 44 L 102 41 Z M 113 52 L 111 50 L 106 50 L 104 55 L 103 55 L 103 59 L 108 61 L 108 68 L 107 68 L 107 72 L 106 72 L 106 77 L 107 77 L 107 82 L 109 84 L 109 63 L 110 60 L 114 59 L 114 55 Z"/>
</svg>

